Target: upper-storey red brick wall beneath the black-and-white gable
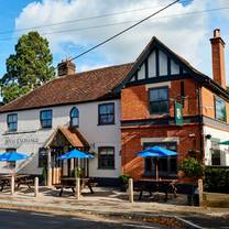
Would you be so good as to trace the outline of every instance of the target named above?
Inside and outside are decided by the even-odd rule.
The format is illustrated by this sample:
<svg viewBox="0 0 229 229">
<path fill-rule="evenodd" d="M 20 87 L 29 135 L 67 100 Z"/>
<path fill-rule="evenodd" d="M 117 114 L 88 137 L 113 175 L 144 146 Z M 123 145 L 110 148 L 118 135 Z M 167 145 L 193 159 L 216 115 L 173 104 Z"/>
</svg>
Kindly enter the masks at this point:
<svg viewBox="0 0 229 229">
<path fill-rule="evenodd" d="M 196 116 L 198 108 L 198 85 L 193 79 L 173 80 L 170 84 L 170 117 L 174 117 L 174 98 L 181 99 L 181 81 L 184 83 L 184 116 Z M 149 112 L 149 91 L 150 86 L 140 85 L 122 89 L 121 91 L 121 120 L 141 120 L 152 117 Z M 167 117 L 167 116 L 166 116 Z"/>
</svg>

